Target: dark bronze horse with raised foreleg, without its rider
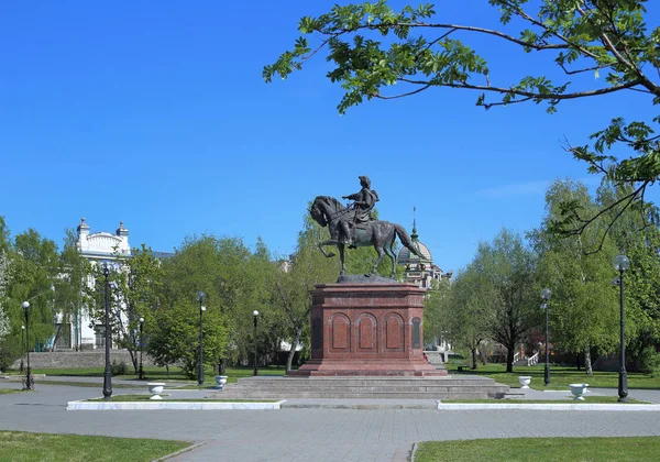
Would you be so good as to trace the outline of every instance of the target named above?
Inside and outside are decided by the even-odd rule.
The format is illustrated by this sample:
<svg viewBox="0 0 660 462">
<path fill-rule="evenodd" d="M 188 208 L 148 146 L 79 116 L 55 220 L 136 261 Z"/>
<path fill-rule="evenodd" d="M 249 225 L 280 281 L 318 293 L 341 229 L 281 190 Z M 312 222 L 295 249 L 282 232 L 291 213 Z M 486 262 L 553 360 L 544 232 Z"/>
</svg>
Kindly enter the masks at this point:
<svg viewBox="0 0 660 462">
<path fill-rule="evenodd" d="M 340 235 L 341 228 L 339 227 L 339 221 L 346 213 L 350 213 L 352 209 L 350 207 L 344 207 L 339 200 L 329 196 L 317 196 L 314 199 L 311 205 L 311 209 L 309 209 L 309 215 L 311 218 L 319 223 L 321 227 L 328 227 L 330 231 L 330 239 L 328 241 L 319 242 L 319 249 L 327 257 L 334 256 L 333 253 L 327 253 L 323 249 L 324 245 L 336 245 L 339 250 L 339 256 L 341 258 L 341 273 L 343 275 L 346 270 L 346 264 L 344 261 L 344 237 Z M 416 245 L 413 243 L 413 240 L 400 224 L 391 223 L 388 221 L 373 220 L 364 223 L 362 228 L 354 229 L 354 246 L 370 246 L 373 245 L 375 251 L 378 253 L 377 258 L 374 261 L 371 273 L 365 276 L 372 276 L 376 274 L 376 267 L 381 260 L 387 254 L 389 260 L 392 261 L 392 273 L 389 274 L 391 278 L 395 277 L 396 274 L 396 260 L 397 256 L 394 253 L 394 242 L 396 237 L 398 235 L 402 244 L 410 250 L 415 255 L 419 257 L 424 257 Z"/>
</svg>

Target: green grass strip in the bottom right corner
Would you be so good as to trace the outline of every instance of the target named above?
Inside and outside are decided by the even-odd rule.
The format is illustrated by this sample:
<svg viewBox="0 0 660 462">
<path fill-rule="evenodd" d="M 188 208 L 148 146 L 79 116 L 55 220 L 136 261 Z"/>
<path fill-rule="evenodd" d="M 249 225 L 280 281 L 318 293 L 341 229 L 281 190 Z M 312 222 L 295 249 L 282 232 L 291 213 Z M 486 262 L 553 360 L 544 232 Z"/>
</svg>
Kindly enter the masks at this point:
<svg viewBox="0 0 660 462">
<path fill-rule="evenodd" d="M 415 461 L 652 461 L 658 454 L 660 437 L 507 438 L 426 441 Z"/>
</svg>

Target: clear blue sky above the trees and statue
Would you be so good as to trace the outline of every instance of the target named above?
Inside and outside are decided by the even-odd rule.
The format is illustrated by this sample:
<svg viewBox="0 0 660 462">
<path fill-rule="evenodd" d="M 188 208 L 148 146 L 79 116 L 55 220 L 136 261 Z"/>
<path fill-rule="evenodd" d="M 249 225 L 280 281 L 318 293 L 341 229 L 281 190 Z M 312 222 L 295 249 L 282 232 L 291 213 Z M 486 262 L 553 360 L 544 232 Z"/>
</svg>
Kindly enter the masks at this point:
<svg viewBox="0 0 660 462">
<path fill-rule="evenodd" d="M 420 240 L 440 267 L 458 270 L 502 227 L 538 226 L 553 179 L 595 186 L 564 138 L 581 144 L 615 116 L 649 113 L 636 94 L 548 116 L 535 105 L 486 112 L 475 94 L 435 90 L 340 117 L 323 58 L 265 85 L 262 67 L 292 46 L 299 18 L 333 3 L 6 3 L 0 215 L 12 233 L 34 228 L 61 243 L 85 217 L 91 232 L 123 221 L 134 246 L 172 251 L 208 232 L 249 245 L 261 235 L 288 254 L 309 200 L 355 193 L 369 175 L 381 218 L 410 230 L 416 206 Z M 494 26 L 498 16 L 486 0 L 468 11 L 436 3 L 453 22 Z M 551 68 L 501 42 L 473 43 L 494 84 Z"/>
</svg>

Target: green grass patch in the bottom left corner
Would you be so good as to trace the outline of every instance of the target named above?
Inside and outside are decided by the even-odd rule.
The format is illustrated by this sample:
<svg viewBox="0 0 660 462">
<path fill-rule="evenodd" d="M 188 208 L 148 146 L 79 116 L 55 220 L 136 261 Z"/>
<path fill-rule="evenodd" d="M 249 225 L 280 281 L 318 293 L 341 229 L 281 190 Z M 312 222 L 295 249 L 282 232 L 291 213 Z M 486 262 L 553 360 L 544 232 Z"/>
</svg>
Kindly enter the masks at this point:
<svg viewBox="0 0 660 462">
<path fill-rule="evenodd" d="M 153 461 L 187 441 L 0 431 L 0 455 L 11 461 Z M 8 459 L 4 459 L 8 458 Z"/>
</svg>

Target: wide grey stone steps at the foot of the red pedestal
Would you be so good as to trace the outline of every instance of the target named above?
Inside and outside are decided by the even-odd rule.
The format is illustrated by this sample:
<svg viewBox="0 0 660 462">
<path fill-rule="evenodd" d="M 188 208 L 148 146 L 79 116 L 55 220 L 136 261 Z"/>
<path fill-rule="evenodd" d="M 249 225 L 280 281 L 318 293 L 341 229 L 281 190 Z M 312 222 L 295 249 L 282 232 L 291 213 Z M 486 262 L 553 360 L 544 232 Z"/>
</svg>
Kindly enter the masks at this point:
<svg viewBox="0 0 660 462">
<path fill-rule="evenodd" d="M 452 377 L 246 377 L 209 398 L 397 398 L 479 399 L 502 397 L 509 387 L 492 378 Z"/>
</svg>

